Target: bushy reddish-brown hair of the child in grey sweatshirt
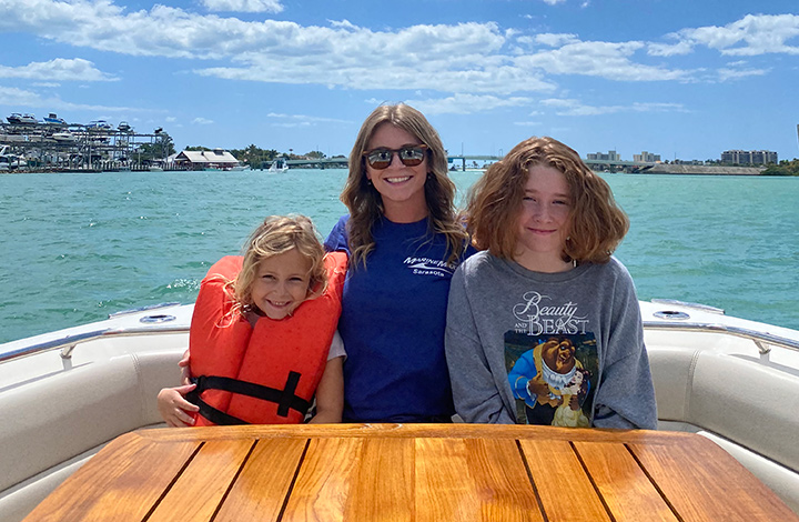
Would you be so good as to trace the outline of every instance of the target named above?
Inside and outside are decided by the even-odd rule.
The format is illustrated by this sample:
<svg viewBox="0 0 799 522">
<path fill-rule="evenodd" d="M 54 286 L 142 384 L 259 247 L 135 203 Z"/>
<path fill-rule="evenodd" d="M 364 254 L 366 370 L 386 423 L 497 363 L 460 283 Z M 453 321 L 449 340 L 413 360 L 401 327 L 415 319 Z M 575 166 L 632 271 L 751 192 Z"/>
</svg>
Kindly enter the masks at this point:
<svg viewBox="0 0 799 522">
<path fill-rule="evenodd" d="M 533 137 L 517 144 L 474 184 L 466 207 L 474 245 L 498 258 L 513 259 L 522 199 L 534 165 L 563 172 L 569 188 L 572 205 L 563 260 L 607 262 L 627 233 L 629 219 L 607 182 L 577 152 L 547 137 Z"/>
</svg>

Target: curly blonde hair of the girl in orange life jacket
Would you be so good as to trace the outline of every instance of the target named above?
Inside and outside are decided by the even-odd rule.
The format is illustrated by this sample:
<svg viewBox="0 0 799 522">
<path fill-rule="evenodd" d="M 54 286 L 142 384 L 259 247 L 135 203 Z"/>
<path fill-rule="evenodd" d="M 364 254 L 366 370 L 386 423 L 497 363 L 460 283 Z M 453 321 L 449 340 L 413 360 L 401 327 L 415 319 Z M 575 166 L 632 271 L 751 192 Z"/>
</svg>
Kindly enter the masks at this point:
<svg viewBox="0 0 799 522">
<path fill-rule="evenodd" d="M 252 287 L 261 261 L 294 249 L 311 262 L 306 299 L 324 292 L 327 287 L 325 251 L 313 222 L 304 215 L 270 215 L 247 239 L 241 272 L 225 285 L 235 302 L 231 310 L 233 315 L 253 307 Z"/>
</svg>

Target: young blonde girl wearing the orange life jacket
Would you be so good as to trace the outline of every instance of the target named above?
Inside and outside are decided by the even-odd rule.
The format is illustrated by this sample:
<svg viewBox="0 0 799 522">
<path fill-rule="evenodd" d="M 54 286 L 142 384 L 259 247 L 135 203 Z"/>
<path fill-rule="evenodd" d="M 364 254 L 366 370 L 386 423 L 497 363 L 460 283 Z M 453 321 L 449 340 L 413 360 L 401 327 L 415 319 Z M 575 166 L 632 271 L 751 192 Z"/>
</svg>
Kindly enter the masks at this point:
<svg viewBox="0 0 799 522">
<path fill-rule="evenodd" d="M 168 424 L 341 422 L 344 347 L 336 333 L 346 255 L 325 257 L 305 217 L 269 217 L 243 259 L 215 263 L 190 329 L 192 383 L 159 393 Z M 186 401 L 183 395 L 186 395 Z"/>
</svg>

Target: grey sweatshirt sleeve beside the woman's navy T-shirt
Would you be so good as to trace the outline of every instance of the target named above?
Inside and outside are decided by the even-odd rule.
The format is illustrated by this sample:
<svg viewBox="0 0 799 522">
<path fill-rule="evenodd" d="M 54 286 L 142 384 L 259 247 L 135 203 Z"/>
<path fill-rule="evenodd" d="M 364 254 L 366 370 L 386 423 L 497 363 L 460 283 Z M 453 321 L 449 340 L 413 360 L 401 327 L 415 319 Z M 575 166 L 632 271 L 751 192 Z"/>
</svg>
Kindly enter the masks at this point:
<svg viewBox="0 0 799 522">
<path fill-rule="evenodd" d="M 466 422 L 513 424 L 479 342 L 461 269 L 449 287 L 445 349 L 458 415 Z"/>
</svg>

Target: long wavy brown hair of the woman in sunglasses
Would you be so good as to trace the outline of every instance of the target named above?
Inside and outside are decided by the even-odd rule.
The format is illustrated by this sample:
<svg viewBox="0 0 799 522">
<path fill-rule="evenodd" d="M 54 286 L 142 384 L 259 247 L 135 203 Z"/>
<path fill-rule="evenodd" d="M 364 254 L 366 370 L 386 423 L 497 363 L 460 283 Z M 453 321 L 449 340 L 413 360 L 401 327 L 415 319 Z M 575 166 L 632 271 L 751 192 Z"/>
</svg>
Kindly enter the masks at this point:
<svg viewBox="0 0 799 522">
<path fill-rule="evenodd" d="M 424 185 L 425 200 L 433 231 L 447 239 L 448 262 L 455 262 L 464 252 L 467 235 L 457 221 L 455 212 L 455 183 L 447 177 L 447 155 L 438 133 L 419 111 L 404 103 L 384 104 L 376 108 L 361 126 L 350 153 L 350 175 L 341 200 L 350 210 L 347 231 L 350 233 L 351 267 L 358 262 L 366 265 L 366 257 L 374 249 L 372 227 L 383 215 L 383 200 L 380 192 L 366 179 L 366 160 L 363 153 L 383 124 L 391 124 L 412 134 L 427 145 L 427 181 Z"/>
</svg>

